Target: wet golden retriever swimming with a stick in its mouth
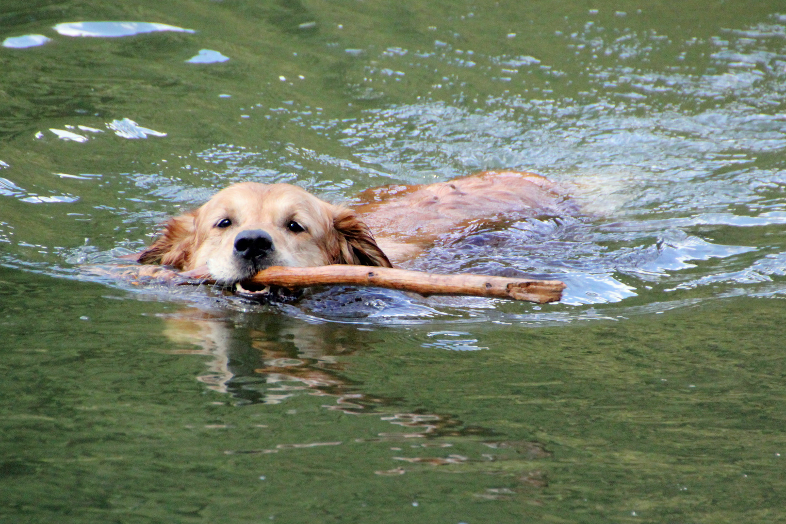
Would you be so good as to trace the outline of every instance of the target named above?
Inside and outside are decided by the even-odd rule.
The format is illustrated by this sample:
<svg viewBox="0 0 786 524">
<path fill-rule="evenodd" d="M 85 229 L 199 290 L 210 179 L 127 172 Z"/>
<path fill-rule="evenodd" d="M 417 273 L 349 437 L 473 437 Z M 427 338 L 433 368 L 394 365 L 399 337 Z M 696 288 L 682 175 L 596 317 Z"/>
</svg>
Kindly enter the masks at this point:
<svg viewBox="0 0 786 524">
<path fill-rule="evenodd" d="M 138 261 L 182 271 L 207 266 L 227 285 L 268 266 L 392 267 L 391 260 L 416 257 L 446 233 L 505 218 L 564 214 L 564 201 L 545 178 L 514 171 L 369 189 L 354 211 L 294 185 L 242 182 L 171 218 Z"/>
</svg>

